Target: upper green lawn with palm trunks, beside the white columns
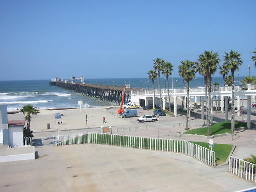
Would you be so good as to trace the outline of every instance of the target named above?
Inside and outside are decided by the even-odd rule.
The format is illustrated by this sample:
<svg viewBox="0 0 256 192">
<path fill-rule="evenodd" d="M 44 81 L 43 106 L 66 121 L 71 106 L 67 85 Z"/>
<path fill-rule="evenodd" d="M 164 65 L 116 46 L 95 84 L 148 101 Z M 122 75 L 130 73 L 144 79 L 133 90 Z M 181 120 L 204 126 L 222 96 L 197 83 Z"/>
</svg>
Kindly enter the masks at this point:
<svg viewBox="0 0 256 192">
<path fill-rule="evenodd" d="M 210 129 L 210 135 L 217 135 L 217 134 L 224 134 L 226 132 L 230 132 L 230 121 L 224 121 L 224 122 L 219 122 L 219 123 L 214 123 L 211 126 Z M 246 122 L 235 122 L 235 127 L 246 127 L 247 123 Z M 192 130 L 187 130 L 184 132 L 184 134 L 198 134 L 198 135 L 206 135 L 207 134 L 207 127 L 203 128 L 198 128 L 198 129 L 192 129 Z"/>
</svg>

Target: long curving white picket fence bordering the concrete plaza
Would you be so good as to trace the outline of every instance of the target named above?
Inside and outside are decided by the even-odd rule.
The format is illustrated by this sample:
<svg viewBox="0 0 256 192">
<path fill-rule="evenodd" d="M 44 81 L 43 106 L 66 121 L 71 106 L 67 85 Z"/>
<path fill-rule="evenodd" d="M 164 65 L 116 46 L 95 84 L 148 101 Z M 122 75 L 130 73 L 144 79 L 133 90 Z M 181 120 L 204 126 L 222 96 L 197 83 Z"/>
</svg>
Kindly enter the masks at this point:
<svg viewBox="0 0 256 192">
<path fill-rule="evenodd" d="M 183 153 L 215 167 L 214 151 L 185 140 L 83 132 L 55 135 L 53 141 L 54 146 L 85 143 Z"/>
</svg>

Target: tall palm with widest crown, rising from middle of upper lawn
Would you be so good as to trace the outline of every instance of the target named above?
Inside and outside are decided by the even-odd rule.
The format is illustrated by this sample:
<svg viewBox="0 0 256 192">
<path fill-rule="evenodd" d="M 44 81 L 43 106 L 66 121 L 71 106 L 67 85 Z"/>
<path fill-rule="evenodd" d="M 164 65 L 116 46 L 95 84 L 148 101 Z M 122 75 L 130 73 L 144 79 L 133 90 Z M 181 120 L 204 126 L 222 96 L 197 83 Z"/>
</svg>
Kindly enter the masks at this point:
<svg viewBox="0 0 256 192">
<path fill-rule="evenodd" d="M 202 73 L 206 76 L 207 79 L 207 135 L 210 134 L 210 123 L 211 123 L 211 80 L 212 74 L 214 74 L 219 66 L 219 55 L 213 53 L 213 51 L 205 51 L 203 54 L 199 55 L 198 59 L 201 63 Z"/>
</svg>

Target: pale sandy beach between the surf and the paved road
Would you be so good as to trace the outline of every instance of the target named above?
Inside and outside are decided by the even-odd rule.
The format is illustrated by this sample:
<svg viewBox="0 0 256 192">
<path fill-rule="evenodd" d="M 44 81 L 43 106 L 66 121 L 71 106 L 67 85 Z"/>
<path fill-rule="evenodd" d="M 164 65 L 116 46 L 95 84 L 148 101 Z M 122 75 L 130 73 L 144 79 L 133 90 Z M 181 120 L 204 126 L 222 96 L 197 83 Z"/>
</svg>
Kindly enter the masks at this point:
<svg viewBox="0 0 256 192">
<path fill-rule="evenodd" d="M 123 120 L 116 116 L 117 109 L 112 109 L 111 111 L 116 111 L 116 114 L 111 115 L 107 108 L 110 107 L 94 107 L 87 109 L 88 115 L 88 126 L 86 126 L 86 113 L 85 108 L 80 109 L 66 109 L 66 110 L 39 110 L 40 113 L 37 115 L 32 115 L 31 119 L 31 130 L 34 132 L 44 132 L 51 131 L 55 129 L 69 130 L 69 129 L 82 129 L 82 128 L 95 128 L 104 126 L 120 126 L 127 124 L 129 121 Z M 54 113 L 61 113 L 61 119 L 63 120 L 62 125 L 58 125 L 58 120 L 54 118 Z M 103 116 L 106 119 L 106 123 L 103 124 Z M 8 114 L 8 120 L 24 120 L 24 114 Z M 51 129 L 47 129 L 47 124 L 50 123 Z"/>
</svg>

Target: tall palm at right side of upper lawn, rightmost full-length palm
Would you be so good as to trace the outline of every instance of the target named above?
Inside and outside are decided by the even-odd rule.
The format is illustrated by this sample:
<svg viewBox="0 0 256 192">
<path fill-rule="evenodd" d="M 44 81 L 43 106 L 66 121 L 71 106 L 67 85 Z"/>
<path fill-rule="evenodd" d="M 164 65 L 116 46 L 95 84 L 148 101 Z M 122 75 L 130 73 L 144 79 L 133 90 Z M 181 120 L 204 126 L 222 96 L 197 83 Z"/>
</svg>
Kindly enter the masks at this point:
<svg viewBox="0 0 256 192">
<path fill-rule="evenodd" d="M 234 131 L 235 128 L 235 119 L 234 119 L 234 73 L 239 69 L 239 65 L 242 65 L 243 61 L 241 60 L 241 55 L 236 51 L 231 50 L 230 53 L 225 52 L 224 55 L 224 65 L 226 65 L 227 69 L 231 71 L 231 96 L 232 96 L 232 104 L 231 104 L 231 132 Z"/>
</svg>

